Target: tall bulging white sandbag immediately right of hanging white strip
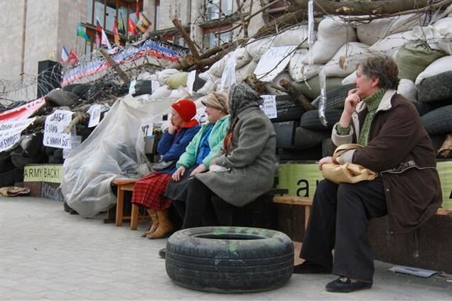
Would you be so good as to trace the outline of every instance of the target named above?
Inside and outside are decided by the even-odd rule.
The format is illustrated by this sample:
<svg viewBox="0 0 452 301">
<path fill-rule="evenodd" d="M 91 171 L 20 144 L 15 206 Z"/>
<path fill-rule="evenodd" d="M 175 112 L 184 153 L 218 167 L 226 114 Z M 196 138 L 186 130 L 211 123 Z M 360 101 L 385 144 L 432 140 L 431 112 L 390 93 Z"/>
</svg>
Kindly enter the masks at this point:
<svg viewBox="0 0 452 301">
<path fill-rule="evenodd" d="M 318 24 L 317 40 L 309 52 L 312 55 L 313 64 L 323 64 L 339 50 L 340 46 L 357 40 L 353 27 L 339 18 L 324 18 Z M 303 62 L 309 63 L 309 54 L 303 58 Z"/>
</svg>

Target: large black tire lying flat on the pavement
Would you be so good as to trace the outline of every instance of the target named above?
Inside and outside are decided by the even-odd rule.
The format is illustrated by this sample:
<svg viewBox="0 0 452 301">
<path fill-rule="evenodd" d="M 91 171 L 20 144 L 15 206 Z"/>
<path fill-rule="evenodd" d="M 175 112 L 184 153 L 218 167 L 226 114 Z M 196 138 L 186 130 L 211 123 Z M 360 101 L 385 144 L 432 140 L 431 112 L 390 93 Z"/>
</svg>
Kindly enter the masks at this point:
<svg viewBox="0 0 452 301">
<path fill-rule="evenodd" d="M 166 273 L 174 283 L 205 292 L 279 288 L 294 270 L 294 245 L 279 231 L 202 227 L 177 231 L 166 243 Z"/>
</svg>

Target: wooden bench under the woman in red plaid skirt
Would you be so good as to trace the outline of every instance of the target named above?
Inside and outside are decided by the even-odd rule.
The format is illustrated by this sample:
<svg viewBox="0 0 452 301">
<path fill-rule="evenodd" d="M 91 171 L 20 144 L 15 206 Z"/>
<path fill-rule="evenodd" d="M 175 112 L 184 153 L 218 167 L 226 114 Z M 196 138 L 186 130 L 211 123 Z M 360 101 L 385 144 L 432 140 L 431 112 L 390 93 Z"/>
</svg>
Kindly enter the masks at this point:
<svg viewBox="0 0 452 301">
<path fill-rule="evenodd" d="M 117 199 L 116 199 L 116 225 L 122 226 L 124 219 L 130 219 L 130 229 L 136 230 L 138 227 L 139 219 L 149 219 L 147 215 L 139 217 L 139 207 L 136 204 L 132 204 L 131 214 L 124 216 L 124 191 L 134 191 L 136 179 L 117 179 L 113 180 L 113 184 L 117 185 Z"/>
</svg>

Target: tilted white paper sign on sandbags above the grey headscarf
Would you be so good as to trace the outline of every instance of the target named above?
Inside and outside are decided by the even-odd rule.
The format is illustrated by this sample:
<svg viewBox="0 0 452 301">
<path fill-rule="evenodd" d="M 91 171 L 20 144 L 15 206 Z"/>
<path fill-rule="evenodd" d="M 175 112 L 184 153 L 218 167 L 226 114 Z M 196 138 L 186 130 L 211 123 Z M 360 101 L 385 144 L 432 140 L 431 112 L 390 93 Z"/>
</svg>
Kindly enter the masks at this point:
<svg viewBox="0 0 452 301">
<path fill-rule="evenodd" d="M 271 47 L 257 63 L 254 75 L 261 82 L 271 82 L 289 64 L 296 46 Z"/>
</svg>

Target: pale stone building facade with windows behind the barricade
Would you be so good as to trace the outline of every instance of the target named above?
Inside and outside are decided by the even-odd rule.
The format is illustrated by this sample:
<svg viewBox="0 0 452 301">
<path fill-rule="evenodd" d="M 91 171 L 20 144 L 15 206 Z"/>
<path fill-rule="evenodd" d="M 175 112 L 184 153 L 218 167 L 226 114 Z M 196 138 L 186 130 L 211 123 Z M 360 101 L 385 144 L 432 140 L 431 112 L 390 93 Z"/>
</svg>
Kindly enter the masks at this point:
<svg viewBox="0 0 452 301">
<path fill-rule="evenodd" d="M 271 0 L 274 1 L 274 0 Z M 258 12 L 269 0 L 245 1 L 242 16 Z M 238 1 L 242 3 L 243 0 Z M 285 1 L 279 1 L 249 22 L 249 35 L 264 23 L 279 16 Z M 121 43 L 130 43 L 141 35 L 130 33 L 129 19 L 136 23 L 136 11 L 146 16 L 151 27 L 147 36 L 157 36 L 178 45 L 185 42 L 173 26 L 178 18 L 200 48 L 210 48 L 243 35 L 237 0 L 17 0 L 0 1 L 0 80 L 23 82 L 36 77 L 38 62 L 59 61 L 63 45 L 78 55 L 90 53 L 97 46 L 96 21 L 114 41 L 116 20 Z M 90 37 L 77 36 L 77 23 Z"/>
</svg>

